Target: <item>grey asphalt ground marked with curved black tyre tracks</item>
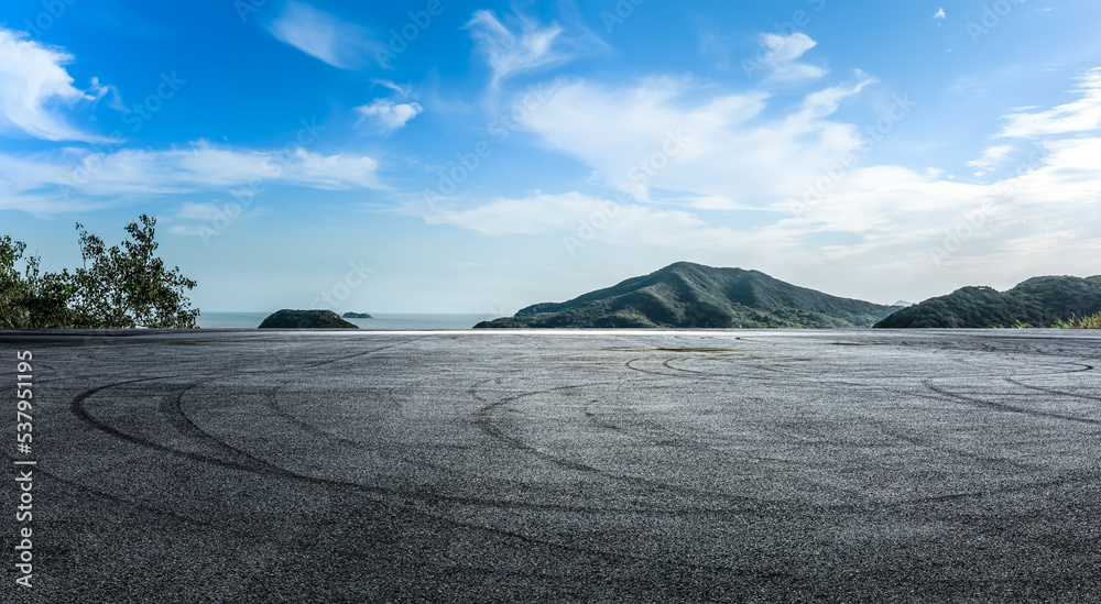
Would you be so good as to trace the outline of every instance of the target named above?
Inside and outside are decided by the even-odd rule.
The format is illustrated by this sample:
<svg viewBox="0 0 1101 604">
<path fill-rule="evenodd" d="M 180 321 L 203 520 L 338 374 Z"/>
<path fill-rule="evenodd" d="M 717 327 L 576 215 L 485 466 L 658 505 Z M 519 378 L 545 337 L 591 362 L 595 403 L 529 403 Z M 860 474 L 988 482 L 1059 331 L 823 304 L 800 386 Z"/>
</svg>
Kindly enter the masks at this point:
<svg viewBox="0 0 1101 604">
<path fill-rule="evenodd" d="M 1099 356 L 1033 330 L 0 332 L 0 452 L 37 461 L 34 587 L 7 563 L 0 600 L 1097 602 Z"/>
</svg>

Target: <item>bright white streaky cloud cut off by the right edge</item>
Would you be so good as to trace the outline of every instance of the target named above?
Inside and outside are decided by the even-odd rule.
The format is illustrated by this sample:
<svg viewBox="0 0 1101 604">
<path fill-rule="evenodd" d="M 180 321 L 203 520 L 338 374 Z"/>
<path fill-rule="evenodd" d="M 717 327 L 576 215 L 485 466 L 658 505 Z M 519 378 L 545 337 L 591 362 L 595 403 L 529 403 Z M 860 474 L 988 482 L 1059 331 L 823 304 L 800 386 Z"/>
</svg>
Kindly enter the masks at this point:
<svg viewBox="0 0 1101 604">
<path fill-rule="evenodd" d="M 1023 108 L 1003 116 L 1005 127 L 999 136 L 1036 139 L 1054 134 L 1090 132 L 1101 129 L 1101 67 L 1077 78 L 1081 98 L 1047 111 Z"/>
</svg>

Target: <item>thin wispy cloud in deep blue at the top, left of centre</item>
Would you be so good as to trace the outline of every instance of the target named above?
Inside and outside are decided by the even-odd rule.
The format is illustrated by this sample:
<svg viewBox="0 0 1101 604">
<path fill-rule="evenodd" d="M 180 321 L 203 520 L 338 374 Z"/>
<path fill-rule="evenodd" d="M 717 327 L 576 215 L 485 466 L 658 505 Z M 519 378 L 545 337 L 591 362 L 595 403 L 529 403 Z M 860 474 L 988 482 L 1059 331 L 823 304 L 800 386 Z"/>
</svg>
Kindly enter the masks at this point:
<svg viewBox="0 0 1101 604">
<path fill-rule="evenodd" d="M 346 23 L 305 2 L 290 0 L 268 31 L 280 42 L 341 69 L 388 66 L 389 48 L 370 30 Z"/>
</svg>

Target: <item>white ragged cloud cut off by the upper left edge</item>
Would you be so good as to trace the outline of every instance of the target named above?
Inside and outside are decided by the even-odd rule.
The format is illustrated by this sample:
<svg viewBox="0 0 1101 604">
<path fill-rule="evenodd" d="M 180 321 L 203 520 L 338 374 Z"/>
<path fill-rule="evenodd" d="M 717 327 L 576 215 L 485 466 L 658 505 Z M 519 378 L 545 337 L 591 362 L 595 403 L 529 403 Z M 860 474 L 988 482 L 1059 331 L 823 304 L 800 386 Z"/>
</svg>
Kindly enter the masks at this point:
<svg viewBox="0 0 1101 604">
<path fill-rule="evenodd" d="M 73 55 L 0 28 L 0 130 L 21 131 L 47 141 L 101 142 L 69 125 L 62 109 L 95 102 L 110 87 L 92 79 L 91 89 L 73 86 L 65 65 Z"/>
</svg>

